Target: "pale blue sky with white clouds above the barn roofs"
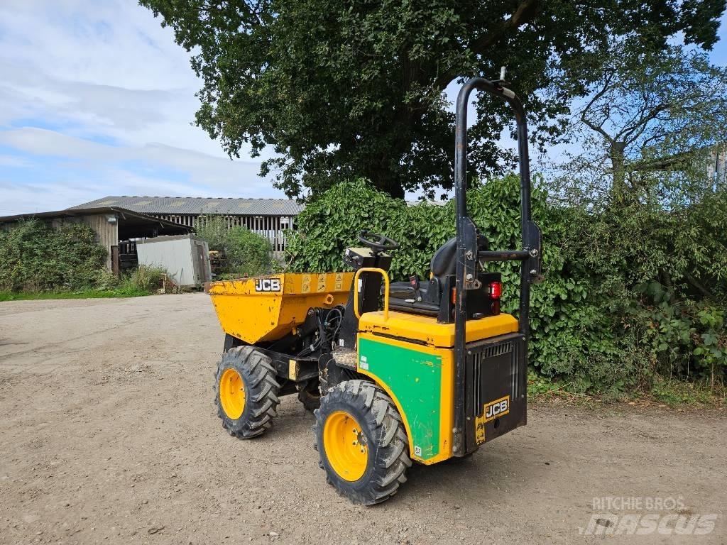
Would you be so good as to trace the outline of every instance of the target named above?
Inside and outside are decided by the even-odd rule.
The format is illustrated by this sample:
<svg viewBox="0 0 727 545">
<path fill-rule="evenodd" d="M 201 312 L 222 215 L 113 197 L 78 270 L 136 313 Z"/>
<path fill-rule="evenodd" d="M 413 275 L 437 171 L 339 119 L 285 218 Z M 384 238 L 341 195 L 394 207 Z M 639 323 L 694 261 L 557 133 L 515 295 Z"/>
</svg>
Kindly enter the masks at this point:
<svg viewBox="0 0 727 545">
<path fill-rule="evenodd" d="M 727 17 L 720 36 L 725 65 Z M 262 159 L 231 161 L 193 126 L 189 60 L 133 0 L 0 1 L 0 216 L 105 195 L 283 198 Z"/>
</svg>

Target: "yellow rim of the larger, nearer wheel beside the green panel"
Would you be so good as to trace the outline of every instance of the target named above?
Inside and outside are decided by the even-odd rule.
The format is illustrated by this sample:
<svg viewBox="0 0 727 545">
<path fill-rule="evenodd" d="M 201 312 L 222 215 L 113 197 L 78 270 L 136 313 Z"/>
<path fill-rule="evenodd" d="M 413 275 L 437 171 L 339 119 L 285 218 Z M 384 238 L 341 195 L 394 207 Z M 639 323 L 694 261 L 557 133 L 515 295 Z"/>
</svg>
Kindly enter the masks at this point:
<svg viewBox="0 0 727 545">
<path fill-rule="evenodd" d="M 345 411 L 332 413 L 323 428 L 323 445 L 331 467 L 342 479 L 353 482 L 363 477 L 369 446 L 353 416 Z"/>
</svg>

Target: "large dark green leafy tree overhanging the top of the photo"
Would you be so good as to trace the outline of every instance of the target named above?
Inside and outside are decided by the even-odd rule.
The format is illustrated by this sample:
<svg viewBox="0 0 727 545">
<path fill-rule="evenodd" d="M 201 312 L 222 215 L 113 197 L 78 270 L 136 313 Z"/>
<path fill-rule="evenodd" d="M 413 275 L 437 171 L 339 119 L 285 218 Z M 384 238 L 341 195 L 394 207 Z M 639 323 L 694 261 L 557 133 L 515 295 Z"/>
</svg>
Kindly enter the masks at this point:
<svg viewBox="0 0 727 545">
<path fill-rule="evenodd" d="M 508 67 L 535 139 L 563 128 L 613 39 L 658 49 L 679 34 L 710 48 L 725 0 L 140 0 L 193 52 L 196 122 L 230 156 L 268 154 L 289 195 L 364 176 L 382 190 L 449 188 L 451 81 Z M 511 158 L 510 116 L 478 103 L 470 176 Z M 266 149 L 267 148 L 267 149 Z M 265 152 L 263 152 L 265 150 Z"/>
</svg>

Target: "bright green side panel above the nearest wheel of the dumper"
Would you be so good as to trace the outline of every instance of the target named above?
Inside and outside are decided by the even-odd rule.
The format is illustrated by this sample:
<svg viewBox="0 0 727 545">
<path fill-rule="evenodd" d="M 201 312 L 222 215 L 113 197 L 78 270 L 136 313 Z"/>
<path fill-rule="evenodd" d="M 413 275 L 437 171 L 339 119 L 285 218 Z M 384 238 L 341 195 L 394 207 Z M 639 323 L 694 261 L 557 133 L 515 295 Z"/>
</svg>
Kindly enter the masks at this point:
<svg viewBox="0 0 727 545">
<path fill-rule="evenodd" d="M 442 358 L 395 347 L 371 339 L 358 339 L 358 367 L 379 377 L 391 389 L 411 430 L 414 456 L 427 460 L 439 452 Z"/>
</svg>

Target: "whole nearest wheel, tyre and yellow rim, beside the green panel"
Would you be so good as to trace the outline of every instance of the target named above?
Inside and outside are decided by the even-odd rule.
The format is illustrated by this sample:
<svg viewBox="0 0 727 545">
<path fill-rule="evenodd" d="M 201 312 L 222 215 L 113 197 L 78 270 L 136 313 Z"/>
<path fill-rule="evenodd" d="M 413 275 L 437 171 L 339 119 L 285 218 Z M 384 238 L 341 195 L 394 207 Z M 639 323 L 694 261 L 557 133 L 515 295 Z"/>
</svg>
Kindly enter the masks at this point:
<svg viewBox="0 0 727 545">
<path fill-rule="evenodd" d="M 406 482 L 411 467 L 401 416 L 371 382 L 341 382 L 321 398 L 316 415 L 318 465 L 353 504 L 378 504 Z"/>
</svg>

